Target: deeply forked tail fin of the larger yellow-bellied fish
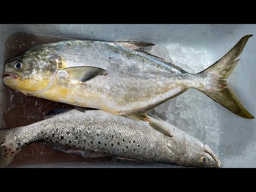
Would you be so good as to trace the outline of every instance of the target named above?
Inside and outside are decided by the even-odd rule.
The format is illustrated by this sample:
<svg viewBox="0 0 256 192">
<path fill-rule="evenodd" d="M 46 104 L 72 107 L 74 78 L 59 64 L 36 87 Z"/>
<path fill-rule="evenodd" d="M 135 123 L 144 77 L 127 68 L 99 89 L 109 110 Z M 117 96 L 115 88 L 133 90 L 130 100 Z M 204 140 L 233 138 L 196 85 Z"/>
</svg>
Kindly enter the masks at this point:
<svg viewBox="0 0 256 192">
<path fill-rule="evenodd" d="M 212 66 L 198 73 L 206 78 L 210 84 L 196 87 L 208 97 L 218 102 L 234 114 L 244 118 L 254 117 L 242 106 L 235 94 L 227 87 L 226 79 L 231 74 L 239 60 L 235 60 L 243 51 L 244 46 L 252 35 L 244 36 L 226 55 L 215 62 Z"/>
</svg>

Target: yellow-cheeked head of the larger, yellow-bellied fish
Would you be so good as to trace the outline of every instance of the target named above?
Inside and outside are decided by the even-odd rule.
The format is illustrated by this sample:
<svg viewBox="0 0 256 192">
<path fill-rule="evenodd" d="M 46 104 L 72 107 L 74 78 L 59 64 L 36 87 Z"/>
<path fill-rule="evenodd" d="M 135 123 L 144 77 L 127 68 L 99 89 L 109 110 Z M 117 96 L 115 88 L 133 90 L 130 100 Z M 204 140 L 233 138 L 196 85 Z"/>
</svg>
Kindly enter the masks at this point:
<svg viewBox="0 0 256 192">
<path fill-rule="evenodd" d="M 3 82 L 24 94 L 43 92 L 52 83 L 57 65 L 45 49 L 32 49 L 9 60 Z"/>
</svg>

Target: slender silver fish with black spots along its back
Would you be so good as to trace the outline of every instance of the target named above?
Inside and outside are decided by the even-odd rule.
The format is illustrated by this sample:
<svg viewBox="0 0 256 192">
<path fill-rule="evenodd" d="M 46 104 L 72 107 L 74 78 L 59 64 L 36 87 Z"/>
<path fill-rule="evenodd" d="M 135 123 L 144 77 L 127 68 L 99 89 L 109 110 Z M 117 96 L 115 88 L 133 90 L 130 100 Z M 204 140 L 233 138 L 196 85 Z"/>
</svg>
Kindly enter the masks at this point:
<svg viewBox="0 0 256 192">
<path fill-rule="evenodd" d="M 47 116 L 46 116 L 47 117 Z M 211 148 L 177 127 L 147 114 L 148 122 L 114 115 L 103 110 L 71 109 L 27 126 L 0 129 L 0 167 L 6 167 L 27 145 L 71 147 L 74 151 L 95 151 L 135 159 L 195 167 L 220 167 Z M 151 124 L 151 125 L 150 125 Z M 167 136 L 153 129 L 163 126 Z"/>
</svg>

